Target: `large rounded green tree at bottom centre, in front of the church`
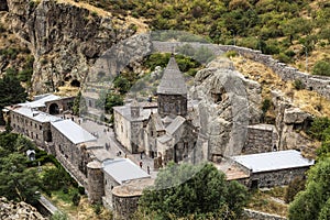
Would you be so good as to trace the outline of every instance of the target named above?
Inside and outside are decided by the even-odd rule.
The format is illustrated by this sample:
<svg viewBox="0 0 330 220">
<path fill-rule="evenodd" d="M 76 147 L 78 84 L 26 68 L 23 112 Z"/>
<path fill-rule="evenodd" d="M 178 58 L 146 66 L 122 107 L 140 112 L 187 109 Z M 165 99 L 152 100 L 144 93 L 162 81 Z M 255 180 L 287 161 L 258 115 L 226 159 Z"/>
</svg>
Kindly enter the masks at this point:
<svg viewBox="0 0 330 220">
<path fill-rule="evenodd" d="M 211 164 L 169 164 L 140 199 L 136 219 L 240 219 L 246 188 Z"/>
</svg>

